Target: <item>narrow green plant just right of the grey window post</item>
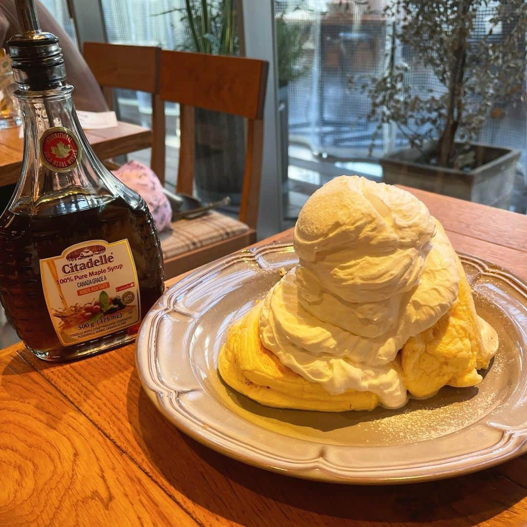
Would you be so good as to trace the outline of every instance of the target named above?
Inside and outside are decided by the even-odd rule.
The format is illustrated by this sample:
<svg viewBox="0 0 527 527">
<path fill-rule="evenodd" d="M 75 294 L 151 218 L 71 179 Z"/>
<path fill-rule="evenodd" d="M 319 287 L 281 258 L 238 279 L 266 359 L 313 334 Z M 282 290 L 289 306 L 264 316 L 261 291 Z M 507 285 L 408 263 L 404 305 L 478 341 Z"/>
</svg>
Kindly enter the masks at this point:
<svg viewBox="0 0 527 527">
<path fill-rule="evenodd" d="M 289 83 L 300 79 L 309 70 L 304 60 L 304 44 L 309 38 L 305 27 L 286 21 L 285 13 L 276 17 L 276 48 L 278 71 L 278 112 L 282 159 L 282 200 L 287 203 L 287 172 L 289 167 Z"/>
</svg>

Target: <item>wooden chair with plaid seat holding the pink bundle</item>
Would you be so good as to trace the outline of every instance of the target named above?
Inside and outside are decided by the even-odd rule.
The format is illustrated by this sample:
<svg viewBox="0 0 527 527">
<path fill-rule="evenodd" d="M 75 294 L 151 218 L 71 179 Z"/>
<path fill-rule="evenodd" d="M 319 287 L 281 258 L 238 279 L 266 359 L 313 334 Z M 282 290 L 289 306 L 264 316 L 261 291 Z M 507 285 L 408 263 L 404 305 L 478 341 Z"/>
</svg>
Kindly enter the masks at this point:
<svg viewBox="0 0 527 527">
<path fill-rule="evenodd" d="M 180 104 L 178 192 L 192 194 L 193 190 L 194 107 L 241 115 L 247 119 L 239 219 L 211 212 L 201 218 L 174 222 L 172 234 L 161 235 L 167 277 L 256 241 L 267 71 L 266 61 L 253 58 L 161 51 L 161 100 Z M 187 243 L 189 239 L 191 241 Z M 178 250 L 181 250 L 181 242 L 187 243 L 187 251 L 171 253 L 171 247 L 178 246 L 178 243 Z"/>
</svg>

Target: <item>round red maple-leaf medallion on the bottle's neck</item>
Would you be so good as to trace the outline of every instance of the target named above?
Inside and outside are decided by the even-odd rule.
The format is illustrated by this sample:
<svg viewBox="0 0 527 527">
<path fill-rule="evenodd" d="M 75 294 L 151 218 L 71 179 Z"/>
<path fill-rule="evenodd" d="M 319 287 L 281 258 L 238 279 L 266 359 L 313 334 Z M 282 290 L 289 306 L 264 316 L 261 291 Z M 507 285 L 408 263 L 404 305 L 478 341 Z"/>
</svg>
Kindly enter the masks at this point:
<svg viewBox="0 0 527 527">
<path fill-rule="evenodd" d="M 42 134 L 40 153 L 42 163 L 55 172 L 73 170 L 81 161 L 79 140 L 63 126 L 48 128 Z"/>
</svg>

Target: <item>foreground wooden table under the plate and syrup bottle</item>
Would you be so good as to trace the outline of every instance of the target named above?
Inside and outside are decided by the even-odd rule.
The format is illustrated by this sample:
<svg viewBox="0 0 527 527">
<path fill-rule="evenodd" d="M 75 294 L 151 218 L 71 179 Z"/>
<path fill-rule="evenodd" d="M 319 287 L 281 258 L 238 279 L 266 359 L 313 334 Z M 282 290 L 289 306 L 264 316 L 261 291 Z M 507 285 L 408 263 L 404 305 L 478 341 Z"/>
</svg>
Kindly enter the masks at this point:
<svg viewBox="0 0 527 527">
<path fill-rule="evenodd" d="M 527 279 L 525 216 L 412 192 L 441 219 L 457 250 Z M 179 432 L 141 389 L 133 345 L 63 365 L 44 363 L 21 344 L 0 352 L 2 525 L 431 521 L 527 524 L 527 456 L 452 480 L 394 487 L 295 480 L 233 461 Z"/>
</svg>

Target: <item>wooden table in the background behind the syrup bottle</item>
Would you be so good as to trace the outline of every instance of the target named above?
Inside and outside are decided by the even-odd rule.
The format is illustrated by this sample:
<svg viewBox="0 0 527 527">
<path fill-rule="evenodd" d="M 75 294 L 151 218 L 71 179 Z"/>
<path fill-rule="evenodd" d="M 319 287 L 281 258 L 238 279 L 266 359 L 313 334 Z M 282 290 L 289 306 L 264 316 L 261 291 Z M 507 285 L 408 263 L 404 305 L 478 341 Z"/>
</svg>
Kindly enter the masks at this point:
<svg viewBox="0 0 527 527">
<path fill-rule="evenodd" d="M 18 132 L 18 127 L 0 130 L 0 187 L 16 183 L 20 175 L 24 139 Z M 114 128 L 86 130 L 85 134 L 100 159 L 152 146 L 152 130 L 121 121 Z"/>
</svg>

